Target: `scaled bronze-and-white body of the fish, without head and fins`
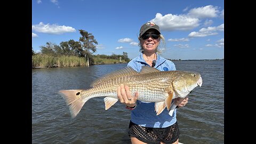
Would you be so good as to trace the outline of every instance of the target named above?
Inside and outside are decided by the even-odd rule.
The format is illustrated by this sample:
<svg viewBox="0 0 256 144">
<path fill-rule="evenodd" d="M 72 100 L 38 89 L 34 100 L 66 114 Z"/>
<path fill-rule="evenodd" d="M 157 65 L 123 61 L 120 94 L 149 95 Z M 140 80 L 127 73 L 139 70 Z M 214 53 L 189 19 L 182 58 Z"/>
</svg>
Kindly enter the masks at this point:
<svg viewBox="0 0 256 144">
<path fill-rule="evenodd" d="M 103 82 L 100 85 L 94 86 L 92 88 L 92 93 L 86 90 L 84 91 L 84 93 L 86 93 L 88 97 L 93 95 L 92 97 L 109 96 L 112 98 L 117 98 L 117 94 L 116 94 L 117 87 L 120 86 L 121 84 L 124 84 L 130 87 L 131 93 L 134 94 L 135 91 L 138 91 L 140 93 L 140 98 L 138 100 L 142 100 L 146 102 L 155 102 L 155 101 L 165 100 L 166 97 L 163 97 L 163 94 L 166 93 L 164 92 L 164 89 L 167 89 L 167 87 L 170 84 L 168 83 L 158 84 L 157 82 L 161 80 L 167 81 L 166 76 L 163 75 L 163 77 L 161 78 L 160 77 L 151 78 L 149 76 L 150 75 L 145 75 L 142 78 L 141 76 L 138 76 L 138 75 L 123 76 L 121 78 L 113 77 L 112 79 L 109 79 L 109 83 Z M 134 83 L 134 81 L 132 81 L 133 79 L 137 79 L 137 82 L 139 81 L 140 83 Z M 116 83 L 113 83 L 113 82 L 116 82 Z M 115 95 L 113 95 L 114 93 Z M 145 97 L 145 95 L 147 96 Z"/>
</svg>

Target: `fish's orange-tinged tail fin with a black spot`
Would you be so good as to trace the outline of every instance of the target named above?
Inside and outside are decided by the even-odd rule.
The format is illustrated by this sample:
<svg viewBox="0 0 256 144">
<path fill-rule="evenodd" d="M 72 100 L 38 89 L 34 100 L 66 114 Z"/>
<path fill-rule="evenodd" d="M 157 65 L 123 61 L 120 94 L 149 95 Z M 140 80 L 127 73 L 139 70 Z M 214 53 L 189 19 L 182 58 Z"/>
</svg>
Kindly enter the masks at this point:
<svg viewBox="0 0 256 144">
<path fill-rule="evenodd" d="M 83 90 L 60 90 L 59 94 L 65 99 L 69 106 L 69 111 L 72 118 L 75 118 L 79 111 L 84 106 L 87 100 L 81 100 L 81 91 Z"/>
</svg>

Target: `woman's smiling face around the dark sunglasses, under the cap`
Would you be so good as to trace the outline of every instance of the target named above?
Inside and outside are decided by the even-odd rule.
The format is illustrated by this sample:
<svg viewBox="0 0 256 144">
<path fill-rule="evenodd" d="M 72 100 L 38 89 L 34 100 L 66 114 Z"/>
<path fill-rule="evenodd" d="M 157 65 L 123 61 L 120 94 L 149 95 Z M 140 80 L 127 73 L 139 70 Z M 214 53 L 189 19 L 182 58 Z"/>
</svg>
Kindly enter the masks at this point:
<svg viewBox="0 0 256 144">
<path fill-rule="evenodd" d="M 157 34 L 157 35 L 159 35 L 159 33 L 157 33 L 156 31 L 154 31 L 154 30 L 148 30 L 148 31 L 146 31 L 145 32 L 145 34 L 143 34 L 143 35 L 147 35 L 147 34 L 150 34 L 151 33 L 151 35 L 147 38 L 147 39 L 142 39 L 142 38 L 140 38 L 140 43 L 141 43 L 141 45 L 142 45 L 142 47 L 143 47 L 143 51 L 145 52 L 145 51 L 147 51 L 147 52 L 155 52 L 155 50 L 156 50 L 156 48 L 157 48 L 157 46 L 158 46 L 158 44 L 159 44 L 159 41 L 160 41 L 160 37 L 158 37 L 158 38 L 153 38 L 154 36 L 152 36 L 152 34 Z M 142 35 L 142 37 L 143 37 L 143 35 Z"/>
</svg>

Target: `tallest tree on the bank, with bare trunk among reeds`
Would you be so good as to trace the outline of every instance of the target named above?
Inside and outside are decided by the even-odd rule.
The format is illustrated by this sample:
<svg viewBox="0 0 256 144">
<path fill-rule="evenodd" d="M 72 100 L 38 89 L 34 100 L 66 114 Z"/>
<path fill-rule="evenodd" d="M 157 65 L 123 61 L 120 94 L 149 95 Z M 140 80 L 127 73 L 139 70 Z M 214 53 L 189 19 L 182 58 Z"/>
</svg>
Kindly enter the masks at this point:
<svg viewBox="0 0 256 144">
<path fill-rule="evenodd" d="M 79 38 L 79 41 L 82 42 L 82 47 L 84 48 L 84 56 L 87 55 L 87 65 L 89 66 L 89 55 L 90 51 L 92 53 L 96 52 L 96 46 L 98 42 L 94 39 L 94 36 L 91 33 L 88 33 L 85 30 L 79 29 L 82 37 Z"/>
</svg>

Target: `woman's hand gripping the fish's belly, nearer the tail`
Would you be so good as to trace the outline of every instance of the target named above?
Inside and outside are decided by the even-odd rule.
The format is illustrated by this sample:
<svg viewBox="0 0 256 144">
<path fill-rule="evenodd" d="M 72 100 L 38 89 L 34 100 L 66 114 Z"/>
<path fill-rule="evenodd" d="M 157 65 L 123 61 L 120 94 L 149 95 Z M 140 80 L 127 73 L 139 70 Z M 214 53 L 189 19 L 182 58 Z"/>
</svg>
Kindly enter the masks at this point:
<svg viewBox="0 0 256 144">
<path fill-rule="evenodd" d="M 135 96 L 133 97 L 127 85 L 124 86 L 124 84 L 121 84 L 121 86 L 117 87 L 118 99 L 128 107 L 134 107 L 136 105 L 138 96 L 138 92 L 135 92 Z"/>
</svg>

